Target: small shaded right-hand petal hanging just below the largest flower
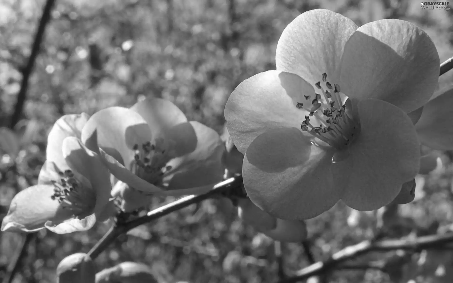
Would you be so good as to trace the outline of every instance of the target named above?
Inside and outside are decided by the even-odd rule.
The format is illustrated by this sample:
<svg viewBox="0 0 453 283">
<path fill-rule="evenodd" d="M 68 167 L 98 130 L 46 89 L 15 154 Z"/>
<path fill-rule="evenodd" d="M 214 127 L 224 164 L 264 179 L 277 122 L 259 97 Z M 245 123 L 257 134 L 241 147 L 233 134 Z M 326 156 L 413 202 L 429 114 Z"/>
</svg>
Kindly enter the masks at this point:
<svg viewBox="0 0 453 283">
<path fill-rule="evenodd" d="M 307 239 L 307 225 L 305 221 L 277 219 L 277 226 L 273 230 L 262 231 L 270 238 L 286 243 L 300 243 Z"/>
</svg>

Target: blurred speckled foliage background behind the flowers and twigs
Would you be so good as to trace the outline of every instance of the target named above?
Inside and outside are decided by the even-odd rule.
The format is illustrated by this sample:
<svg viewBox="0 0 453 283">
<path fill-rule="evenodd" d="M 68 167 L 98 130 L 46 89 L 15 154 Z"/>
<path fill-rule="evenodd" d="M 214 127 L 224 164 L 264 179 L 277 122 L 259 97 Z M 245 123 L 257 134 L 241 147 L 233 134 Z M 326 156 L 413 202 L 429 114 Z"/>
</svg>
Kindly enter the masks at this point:
<svg viewBox="0 0 453 283">
<path fill-rule="evenodd" d="M 43 5 L 43 0 L 0 0 L 0 126 L 11 125 Z M 433 39 L 441 62 L 453 56 L 453 10 L 422 10 L 414 0 L 56 0 L 22 115 L 14 123 L 19 140 L 15 153 L 0 149 L 0 213 L 7 211 L 16 192 L 36 183 L 48 130 L 62 115 L 92 115 L 154 96 L 173 101 L 189 120 L 221 133 L 231 91 L 244 79 L 275 69 L 275 48 L 285 26 L 316 8 L 337 11 L 358 26 L 379 19 L 408 20 Z M 439 87 L 449 86 L 452 78 L 453 72 L 440 77 Z M 314 258 L 325 260 L 347 245 L 371 238 L 376 226 L 388 226 L 381 229 L 384 238 L 450 230 L 452 155 L 435 154 L 439 166 L 418 176 L 414 202 L 388 209 L 387 214 L 352 211 L 338 203 L 307 221 Z M 172 200 L 156 198 L 152 207 Z M 55 282 L 59 261 L 87 252 L 108 228 L 100 224 L 69 235 L 40 231 L 27 245 L 13 282 Z M 21 238 L 5 232 L 0 241 L 1 280 Z M 310 261 L 301 244 L 284 244 L 283 254 L 288 274 Z M 369 254 L 360 262 L 372 261 L 374 269 L 334 271 L 310 282 L 453 282 L 450 250 L 409 258 L 398 254 Z M 243 225 L 236 210 L 218 200 L 136 228 L 111 245 L 96 264 L 101 270 L 123 261 L 149 264 L 156 278 L 167 283 L 278 279 L 272 240 Z"/>
</svg>

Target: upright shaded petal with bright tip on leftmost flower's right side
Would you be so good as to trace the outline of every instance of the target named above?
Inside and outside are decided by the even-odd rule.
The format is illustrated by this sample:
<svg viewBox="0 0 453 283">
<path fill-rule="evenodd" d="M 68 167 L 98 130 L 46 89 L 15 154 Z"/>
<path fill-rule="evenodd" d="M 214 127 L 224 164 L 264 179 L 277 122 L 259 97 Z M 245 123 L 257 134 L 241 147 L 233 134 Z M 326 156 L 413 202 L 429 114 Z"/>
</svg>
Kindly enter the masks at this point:
<svg viewBox="0 0 453 283">
<path fill-rule="evenodd" d="M 111 183 L 110 172 L 101 158 L 75 137 L 64 139 L 63 156 L 73 171 L 87 177 L 90 187 L 96 192 L 96 206 L 93 213 L 103 211 L 111 197 Z"/>
</svg>

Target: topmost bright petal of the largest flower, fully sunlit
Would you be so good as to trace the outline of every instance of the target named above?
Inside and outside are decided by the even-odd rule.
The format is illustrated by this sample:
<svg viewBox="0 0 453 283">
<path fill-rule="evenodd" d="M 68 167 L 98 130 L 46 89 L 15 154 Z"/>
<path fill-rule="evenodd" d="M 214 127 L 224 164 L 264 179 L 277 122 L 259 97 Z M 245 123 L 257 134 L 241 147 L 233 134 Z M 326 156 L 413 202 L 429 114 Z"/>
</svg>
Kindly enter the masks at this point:
<svg viewBox="0 0 453 283">
<path fill-rule="evenodd" d="M 277 43 L 278 71 L 299 75 L 314 85 L 327 73 L 338 83 L 341 55 L 357 25 L 345 16 L 324 9 L 307 11 L 284 29 Z"/>
</svg>

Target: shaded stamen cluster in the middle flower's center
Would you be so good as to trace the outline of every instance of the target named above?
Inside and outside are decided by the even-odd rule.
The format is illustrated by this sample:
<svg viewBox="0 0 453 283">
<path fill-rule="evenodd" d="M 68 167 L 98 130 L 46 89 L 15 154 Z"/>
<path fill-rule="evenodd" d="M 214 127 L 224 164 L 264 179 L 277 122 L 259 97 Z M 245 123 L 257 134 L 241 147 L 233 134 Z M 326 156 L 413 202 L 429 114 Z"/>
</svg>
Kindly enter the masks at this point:
<svg viewBox="0 0 453 283">
<path fill-rule="evenodd" d="M 141 146 L 135 144 L 132 149 L 135 151 L 132 172 L 153 185 L 163 185 L 164 174 L 172 168 L 166 165 L 175 157 L 173 140 L 157 138 L 154 144 L 148 141 Z"/>
</svg>

